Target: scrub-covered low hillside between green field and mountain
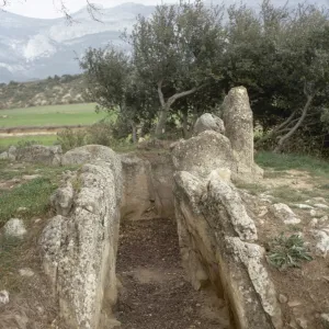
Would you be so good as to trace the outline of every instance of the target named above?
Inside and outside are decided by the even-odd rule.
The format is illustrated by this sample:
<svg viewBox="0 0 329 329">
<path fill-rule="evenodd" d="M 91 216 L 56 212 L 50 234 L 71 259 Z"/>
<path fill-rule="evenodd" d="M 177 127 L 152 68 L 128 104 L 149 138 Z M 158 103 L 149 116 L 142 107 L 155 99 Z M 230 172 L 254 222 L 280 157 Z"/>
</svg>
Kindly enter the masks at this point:
<svg viewBox="0 0 329 329">
<path fill-rule="evenodd" d="M 63 76 L 31 82 L 0 83 L 0 110 L 83 103 L 81 76 Z"/>
</svg>

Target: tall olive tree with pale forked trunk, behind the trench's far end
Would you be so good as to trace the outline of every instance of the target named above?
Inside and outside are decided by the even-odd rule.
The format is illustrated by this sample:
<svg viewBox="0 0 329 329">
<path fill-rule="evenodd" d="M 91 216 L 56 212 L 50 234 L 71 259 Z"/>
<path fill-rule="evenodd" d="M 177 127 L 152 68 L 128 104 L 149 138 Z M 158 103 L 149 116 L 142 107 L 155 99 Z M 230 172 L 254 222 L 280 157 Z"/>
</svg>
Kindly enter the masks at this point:
<svg viewBox="0 0 329 329">
<path fill-rule="evenodd" d="M 133 63 L 143 81 L 158 93 L 156 135 L 166 131 L 173 104 L 220 76 L 225 33 L 223 8 L 202 1 L 158 5 L 150 19 L 138 16 L 131 35 Z"/>
</svg>

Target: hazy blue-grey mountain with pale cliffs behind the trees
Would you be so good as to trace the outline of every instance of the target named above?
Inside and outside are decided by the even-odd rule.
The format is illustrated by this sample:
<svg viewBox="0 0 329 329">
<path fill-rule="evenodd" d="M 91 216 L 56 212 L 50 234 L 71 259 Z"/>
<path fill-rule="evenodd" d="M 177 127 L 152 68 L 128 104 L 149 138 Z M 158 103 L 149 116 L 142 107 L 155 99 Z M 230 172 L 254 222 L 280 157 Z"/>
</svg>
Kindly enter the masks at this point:
<svg viewBox="0 0 329 329">
<path fill-rule="evenodd" d="M 232 1 L 225 2 L 229 5 Z M 248 1 L 248 5 L 257 9 L 260 2 Z M 285 2 L 273 0 L 281 5 Z M 298 2 L 291 0 L 290 5 Z M 206 0 L 206 3 L 222 3 L 222 0 Z M 317 4 L 328 5 L 329 0 L 317 0 Z M 154 10 L 152 5 L 138 3 L 103 8 L 99 13 L 101 22 L 97 22 L 83 8 L 72 15 L 70 25 L 64 19 L 41 20 L 0 11 L 0 82 L 78 73 L 76 58 L 88 47 L 112 43 L 127 49 L 120 38 L 121 33 L 132 30 L 138 14 L 149 16 Z"/>
</svg>

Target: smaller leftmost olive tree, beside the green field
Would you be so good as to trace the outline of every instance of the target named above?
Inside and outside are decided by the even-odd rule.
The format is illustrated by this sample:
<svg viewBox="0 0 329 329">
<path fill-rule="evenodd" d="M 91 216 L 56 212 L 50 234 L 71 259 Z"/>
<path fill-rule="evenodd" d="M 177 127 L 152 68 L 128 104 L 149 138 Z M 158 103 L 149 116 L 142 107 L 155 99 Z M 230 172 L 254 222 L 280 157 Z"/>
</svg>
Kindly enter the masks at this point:
<svg viewBox="0 0 329 329">
<path fill-rule="evenodd" d="M 86 98 L 98 103 L 97 111 L 116 111 L 137 141 L 137 125 L 154 117 L 155 93 L 136 76 L 131 58 L 113 47 L 90 48 L 80 66 L 87 81 Z"/>
</svg>

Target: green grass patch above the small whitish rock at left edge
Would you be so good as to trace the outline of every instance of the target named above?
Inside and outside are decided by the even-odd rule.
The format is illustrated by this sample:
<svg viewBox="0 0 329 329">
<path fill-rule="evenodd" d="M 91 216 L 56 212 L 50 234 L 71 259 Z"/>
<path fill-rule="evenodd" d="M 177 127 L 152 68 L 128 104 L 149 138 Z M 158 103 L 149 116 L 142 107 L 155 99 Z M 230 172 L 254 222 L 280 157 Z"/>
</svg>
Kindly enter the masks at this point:
<svg viewBox="0 0 329 329">
<path fill-rule="evenodd" d="M 48 178 L 37 178 L 12 190 L 4 190 L 0 194 L 0 227 L 18 215 L 19 207 L 26 207 L 20 214 L 26 218 L 42 216 L 49 208 L 49 196 L 57 189 L 57 184 Z"/>
</svg>

